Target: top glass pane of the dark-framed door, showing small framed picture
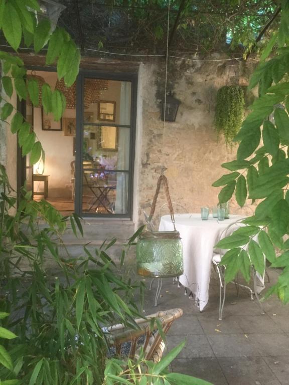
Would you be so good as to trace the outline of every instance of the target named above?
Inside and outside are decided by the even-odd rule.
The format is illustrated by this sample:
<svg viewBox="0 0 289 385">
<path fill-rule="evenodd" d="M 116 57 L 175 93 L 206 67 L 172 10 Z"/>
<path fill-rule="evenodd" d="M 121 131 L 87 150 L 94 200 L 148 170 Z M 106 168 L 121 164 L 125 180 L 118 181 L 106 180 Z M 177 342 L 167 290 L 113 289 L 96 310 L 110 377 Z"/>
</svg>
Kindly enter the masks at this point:
<svg viewBox="0 0 289 385">
<path fill-rule="evenodd" d="M 131 83 L 85 79 L 84 122 L 130 125 Z"/>
</svg>

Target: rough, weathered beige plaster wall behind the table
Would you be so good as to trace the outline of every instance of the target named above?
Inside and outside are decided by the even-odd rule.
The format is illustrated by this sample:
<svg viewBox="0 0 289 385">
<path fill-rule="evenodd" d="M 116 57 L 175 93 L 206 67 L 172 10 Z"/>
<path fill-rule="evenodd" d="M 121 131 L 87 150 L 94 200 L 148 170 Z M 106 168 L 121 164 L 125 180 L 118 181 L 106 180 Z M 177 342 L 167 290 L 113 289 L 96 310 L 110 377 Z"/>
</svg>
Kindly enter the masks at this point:
<svg viewBox="0 0 289 385">
<path fill-rule="evenodd" d="M 174 70 L 175 97 L 181 105 L 176 122 L 164 125 L 156 97 L 160 95 L 158 87 L 164 72 L 156 64 L 147 64 L 142 69 L 143 134 L 141 164 L 136 170 L 139 172 L 139 222 L 143 222 L 143 210 L 149 213 L 162 169 L 166 169 L 173 202 L 184 205 L 191 213 L 199 213 L 201 206 L 216 206 L 220 188 L 211 185 L 226 172 L 221 163 L 233 160 L 236 155 L 237 147 L 226 148 L 222 137 L 217 141 L 213 126 L 215 96 L 218 88 L 224 85 L 245 85 L 252 68 L 246 68 L 244 76 L 238 63 L 229 66 L 198 62 L 182 68 L 180 62 L 175 64 Z M 162 191 L 156 214 L 164 203 L 166 198 Z M 236 212 L 234 199 L 230 207 L 231 213 Z M 161 214 L 166 213 L 168 209 L 164 208 Z"/>
</svg>

